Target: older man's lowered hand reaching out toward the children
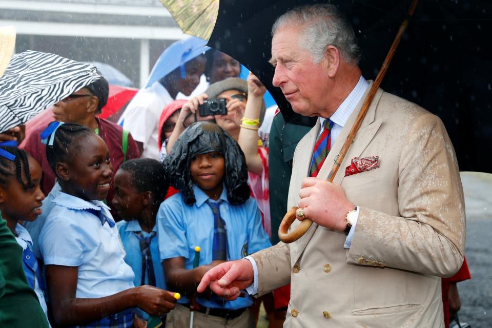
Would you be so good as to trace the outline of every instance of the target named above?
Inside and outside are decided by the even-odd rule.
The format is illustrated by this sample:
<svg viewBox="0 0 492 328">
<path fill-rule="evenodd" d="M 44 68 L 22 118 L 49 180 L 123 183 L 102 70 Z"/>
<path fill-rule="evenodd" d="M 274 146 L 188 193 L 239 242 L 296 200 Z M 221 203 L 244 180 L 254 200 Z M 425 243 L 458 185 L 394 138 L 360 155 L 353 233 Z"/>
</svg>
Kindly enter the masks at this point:
<svg viewBox="0 0 492 328">
<path fill-rule="evenodd" d="M 210 286 L 212 292 L 226 300 L 235 300 L 241 290 L 253 283 L 253 266 L 247 259 L 229 261 L 207 272 L 197 287 L 203 293 Z"/>
</svg>

